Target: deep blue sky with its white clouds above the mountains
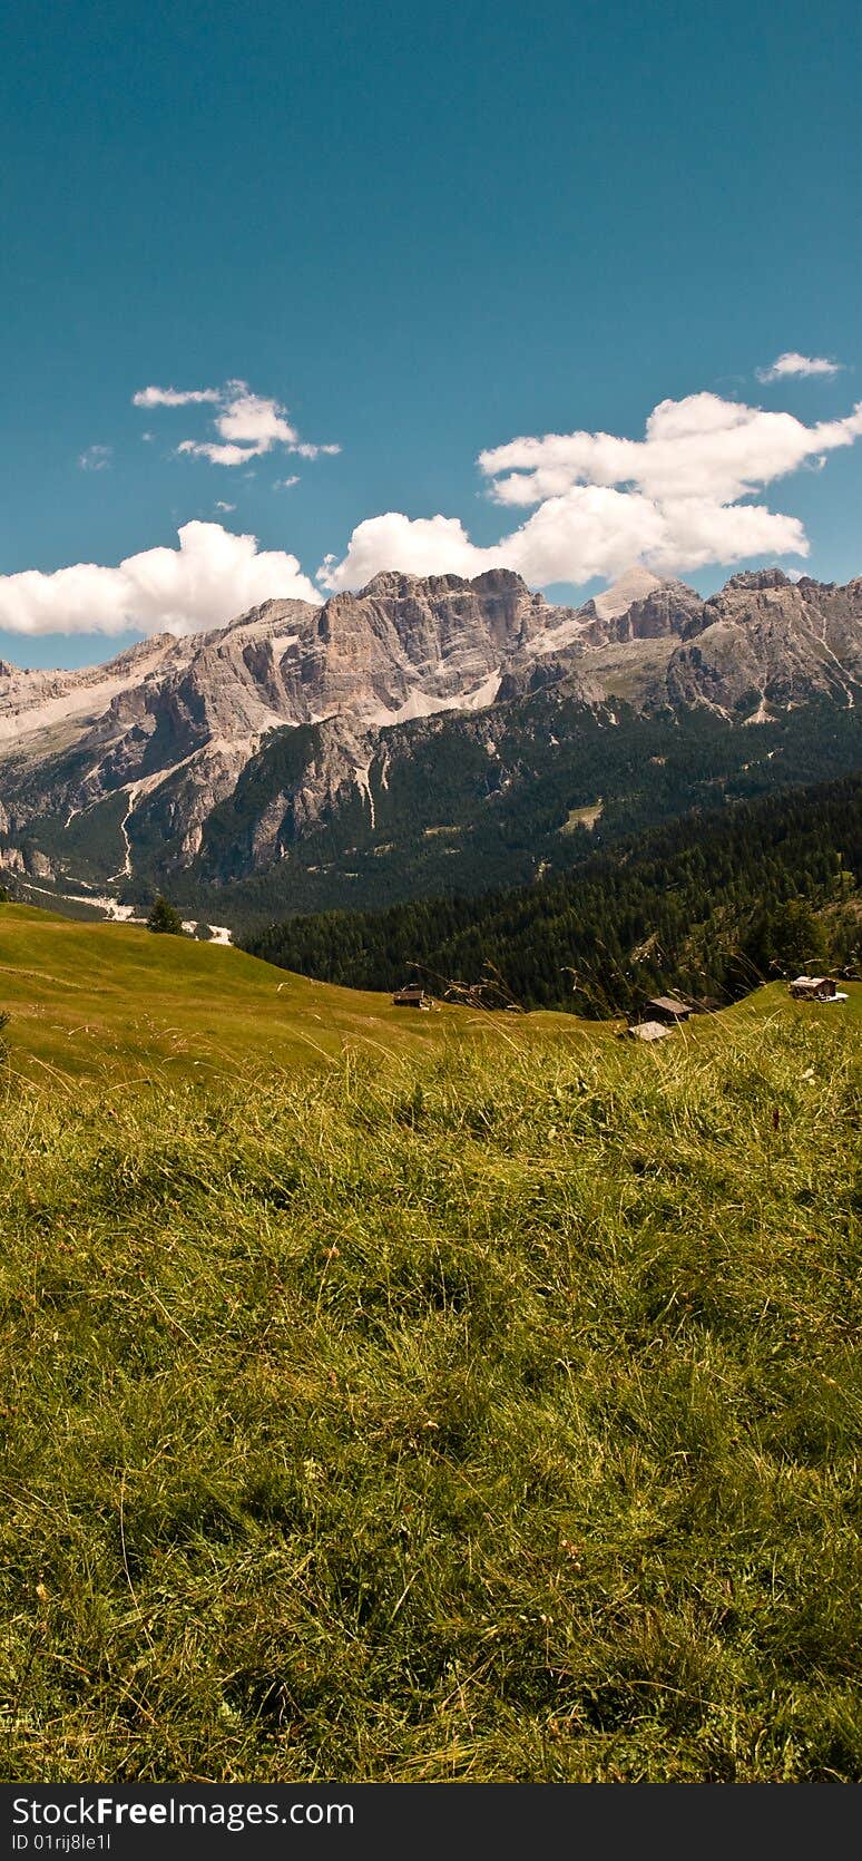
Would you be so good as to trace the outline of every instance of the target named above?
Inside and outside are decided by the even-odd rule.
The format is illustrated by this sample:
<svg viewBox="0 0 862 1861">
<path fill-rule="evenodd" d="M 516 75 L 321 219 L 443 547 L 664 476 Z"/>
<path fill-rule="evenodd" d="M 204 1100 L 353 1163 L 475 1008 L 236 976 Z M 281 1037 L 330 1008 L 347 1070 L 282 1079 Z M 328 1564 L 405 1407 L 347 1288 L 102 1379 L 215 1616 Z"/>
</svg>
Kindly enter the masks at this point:
<svg viewBox="0 0 862 1861">
<path fill-rule="evenodd" d="M 847 0 L 17 9 L 0 655 L 104 659 L 387 551 L 467 573 L 497 551 L 553 596 L 626 553 L 704 590 L 758 560 L 860 573 L 862 437 L 838 424 L 862 398 L 860 52 Z M 786 354 L 842 367 L 758 380 Z M 132 406 L 145 387 L 220 400 Z M 179 452 L 223 445 L 242 398 L 248 434 L 298 437 Z M 596 435 L 642 441 L 661 402 L 689 413 L 609 465 Z M 793 424 L 737 430 L 728 404 Z M 562 463 L 547 434 L 579 435 Z M 188 525 L 227 540 L 186 530 L 177 568 Z M 780 553 L 799 527 L 808 556 Z M 9 582 L 141 555 L 123 582 Z"/>
</svg>

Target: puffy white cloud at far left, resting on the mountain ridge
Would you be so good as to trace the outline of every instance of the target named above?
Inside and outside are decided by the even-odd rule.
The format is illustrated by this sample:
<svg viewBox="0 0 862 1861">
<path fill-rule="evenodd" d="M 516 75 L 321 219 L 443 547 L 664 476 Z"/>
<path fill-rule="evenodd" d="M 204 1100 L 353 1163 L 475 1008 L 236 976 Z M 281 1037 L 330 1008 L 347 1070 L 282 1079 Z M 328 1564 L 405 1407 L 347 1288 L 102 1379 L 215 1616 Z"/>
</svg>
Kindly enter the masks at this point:
<svg viewBox="0 0 862 1861">
<path fill-rule="evenodd" d="M 274 597 L 320 601 L 296 556 L 259 549 L 220 523 L 186 523 L 179 549 L 145 549 L 117 568 L 76 562 L 43 575 L 0 575 L 9 633 L 197 633 Z"/>
</svg>

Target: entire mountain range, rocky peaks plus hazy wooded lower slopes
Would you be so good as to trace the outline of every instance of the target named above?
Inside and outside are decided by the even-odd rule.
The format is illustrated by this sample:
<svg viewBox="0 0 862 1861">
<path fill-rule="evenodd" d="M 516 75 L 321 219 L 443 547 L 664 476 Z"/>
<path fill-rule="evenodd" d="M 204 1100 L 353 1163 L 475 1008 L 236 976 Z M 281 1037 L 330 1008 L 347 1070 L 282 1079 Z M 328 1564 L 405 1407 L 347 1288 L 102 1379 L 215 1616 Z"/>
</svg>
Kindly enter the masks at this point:
<svg viewBox="0 0 862 1861">
<path fill-rule="evenodd" d="M 862 579 L 508 569 L 268 601 L 101 668 L 0 661 L 0 867 L 22 895 L 227 930 L 477 893 L 860 761 Z"/>
</svg>

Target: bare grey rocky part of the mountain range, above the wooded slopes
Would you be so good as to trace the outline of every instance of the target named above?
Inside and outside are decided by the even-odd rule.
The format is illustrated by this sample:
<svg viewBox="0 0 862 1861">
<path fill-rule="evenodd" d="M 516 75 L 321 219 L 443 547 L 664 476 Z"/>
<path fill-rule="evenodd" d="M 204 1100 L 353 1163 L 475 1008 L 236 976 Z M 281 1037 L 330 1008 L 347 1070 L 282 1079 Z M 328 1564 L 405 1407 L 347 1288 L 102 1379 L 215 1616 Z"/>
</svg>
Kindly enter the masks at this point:
<svg viewBox="0 0 862 1861">
<path fill-rule="evenodd" d="M 330 830 L 339 860 L 357 804 L 365 845 L 393 769 L 410 787 L 415 754 L 441 797 L 478 756 L 478 804 L 488 791 L 501 811 L 506 791 L 545 780 L 557 748 L 577 808 L 594 800 L 575 793 L 579 752 L 592 770 L 588 744 L 620 720 L 633 743 L 646 743 L 639 724 L 691 731 L 707 716 L 735 735 L 814 703 L 843 713 L 847 735 L 860 694 L 862 577 L 842 588 L 767 568 L 702 599 L 633 569 L 572 609 L 510 569 L 382 571 L 324 605 L 276 599 L 201 635 L 156 635 L 104 666 L 4 663 L 0 867 L 97 886 L 108 903 L 162 882 L 220 888 Z M 257 813 L 231 845 L 238 800 Z"/>
</svg>

